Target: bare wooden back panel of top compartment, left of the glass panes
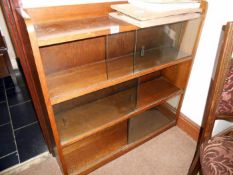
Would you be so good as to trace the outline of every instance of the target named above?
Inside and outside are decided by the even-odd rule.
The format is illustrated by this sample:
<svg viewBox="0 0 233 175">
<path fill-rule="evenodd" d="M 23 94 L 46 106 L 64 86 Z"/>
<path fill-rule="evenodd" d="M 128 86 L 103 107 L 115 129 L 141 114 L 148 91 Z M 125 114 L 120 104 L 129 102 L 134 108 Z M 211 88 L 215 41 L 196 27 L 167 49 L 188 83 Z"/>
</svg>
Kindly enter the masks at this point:
<svg viewBox="0 0 233 175">
<path fill-rule="evenodd" d="M 51 74 L 69 68 L 105 60 L 105 37 L 41 47 L 45 73 Z"/>
</svg>

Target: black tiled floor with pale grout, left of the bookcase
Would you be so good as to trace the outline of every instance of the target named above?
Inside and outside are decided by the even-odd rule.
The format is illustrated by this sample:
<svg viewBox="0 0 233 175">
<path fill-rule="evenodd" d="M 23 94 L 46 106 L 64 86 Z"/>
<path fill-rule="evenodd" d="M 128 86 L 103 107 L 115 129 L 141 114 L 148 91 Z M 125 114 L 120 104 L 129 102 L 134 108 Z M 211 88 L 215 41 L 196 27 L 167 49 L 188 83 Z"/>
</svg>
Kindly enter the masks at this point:
<svg viewBox="0 0 233 175">
<path fill-rule="evenodd" d="M 47 151 L 24 83 L 0 78 L 0 171 Z"/>
</svg>

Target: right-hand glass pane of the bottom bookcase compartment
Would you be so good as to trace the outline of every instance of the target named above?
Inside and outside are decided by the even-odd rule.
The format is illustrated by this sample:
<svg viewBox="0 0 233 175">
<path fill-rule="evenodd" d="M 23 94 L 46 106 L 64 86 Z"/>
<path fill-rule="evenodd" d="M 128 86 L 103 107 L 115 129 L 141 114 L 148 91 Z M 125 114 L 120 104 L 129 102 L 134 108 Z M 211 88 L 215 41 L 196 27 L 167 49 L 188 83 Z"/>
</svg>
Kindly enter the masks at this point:
<svg viewBox="0 0 233 175">
<path fill-rule="evenodd" d="M 176 96 L 129 119 L 128 143 L 138 141 L 174 123 L 179 99 L 180 96 Z"/>
</svg>

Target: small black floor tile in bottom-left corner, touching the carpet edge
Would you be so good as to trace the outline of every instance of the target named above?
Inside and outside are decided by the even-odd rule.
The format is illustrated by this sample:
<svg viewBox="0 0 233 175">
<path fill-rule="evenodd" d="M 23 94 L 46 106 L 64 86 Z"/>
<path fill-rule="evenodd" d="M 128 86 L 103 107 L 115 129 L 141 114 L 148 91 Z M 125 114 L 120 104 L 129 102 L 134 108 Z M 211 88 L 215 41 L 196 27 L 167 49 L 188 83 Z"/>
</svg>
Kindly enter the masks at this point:
<svg viewBox="0 0 233 175">
<path fill-rule="evenodd" d="M 0 171 L 7 169 L 19 163 L 17 153 L 11 154 L 0 159 Z"/>
</svg>

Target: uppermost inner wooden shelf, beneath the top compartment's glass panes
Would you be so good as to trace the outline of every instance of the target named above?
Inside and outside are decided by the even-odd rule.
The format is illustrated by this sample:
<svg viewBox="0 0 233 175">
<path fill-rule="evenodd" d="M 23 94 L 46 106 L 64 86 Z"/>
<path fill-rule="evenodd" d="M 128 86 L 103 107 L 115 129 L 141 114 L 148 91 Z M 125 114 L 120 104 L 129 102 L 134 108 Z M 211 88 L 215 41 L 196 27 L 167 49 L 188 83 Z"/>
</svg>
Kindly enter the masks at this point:
<svg viewBox="0 0 233 175">
<path fill-rule="evenodd" d="M 145 52 L 143 57 L 136 56 L 134 66 L 133 58 L 124 56 L 106 64 L 97 62 L 60 71 L 46 78 L 50 100 L 52 105 L 58 104 L 190 59 L 188 54 L 174 48 L 159 48 Z"/>
</svg>

